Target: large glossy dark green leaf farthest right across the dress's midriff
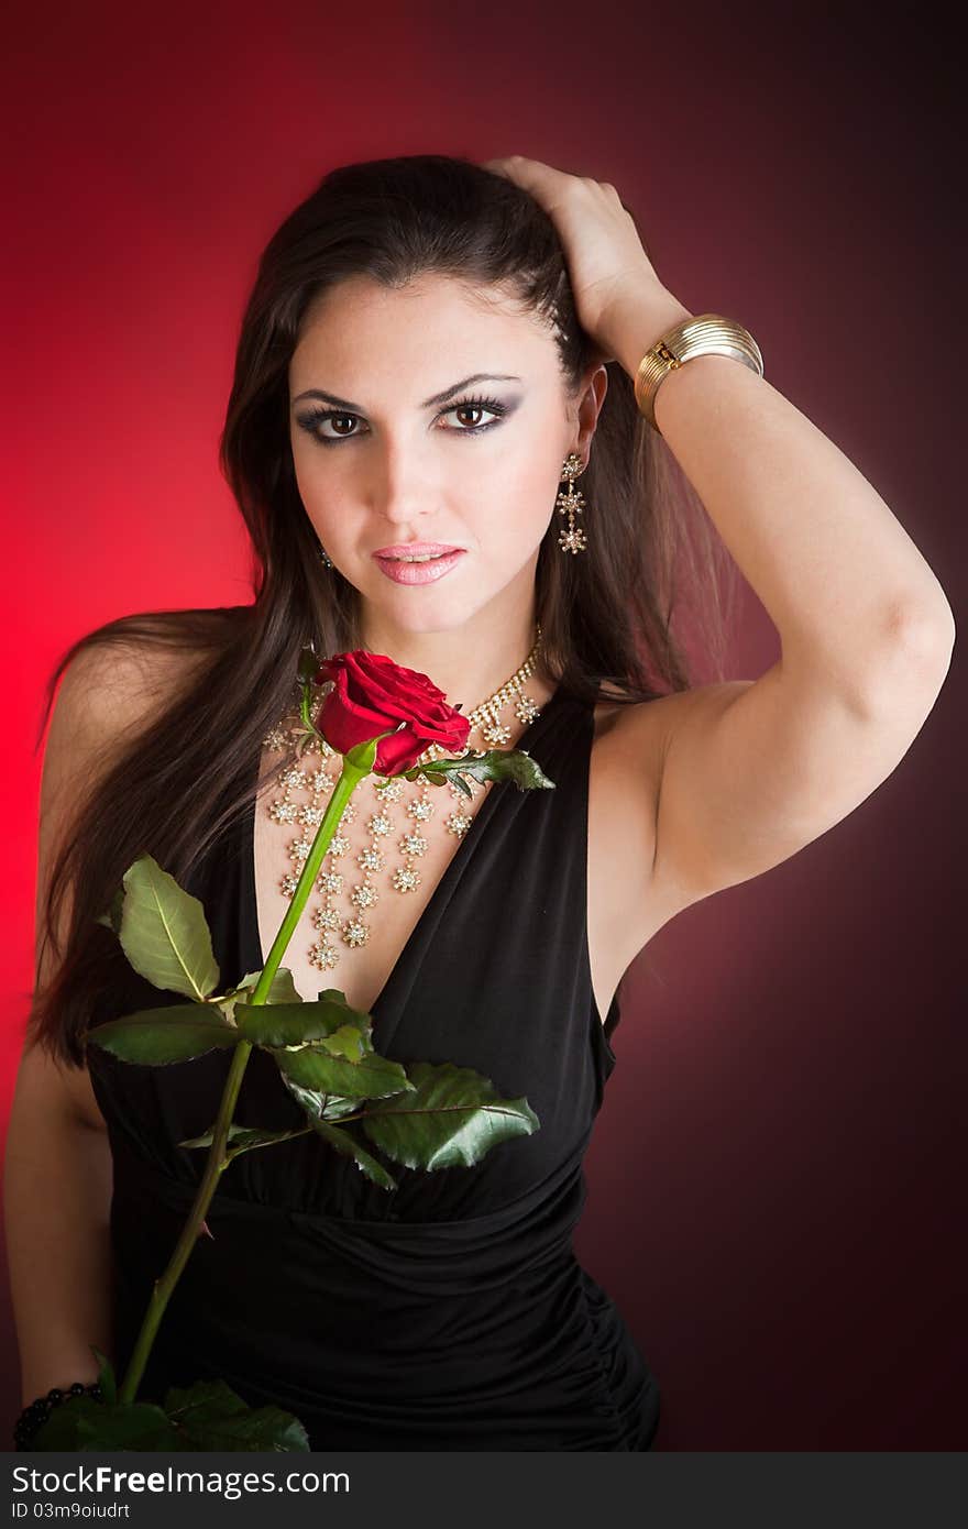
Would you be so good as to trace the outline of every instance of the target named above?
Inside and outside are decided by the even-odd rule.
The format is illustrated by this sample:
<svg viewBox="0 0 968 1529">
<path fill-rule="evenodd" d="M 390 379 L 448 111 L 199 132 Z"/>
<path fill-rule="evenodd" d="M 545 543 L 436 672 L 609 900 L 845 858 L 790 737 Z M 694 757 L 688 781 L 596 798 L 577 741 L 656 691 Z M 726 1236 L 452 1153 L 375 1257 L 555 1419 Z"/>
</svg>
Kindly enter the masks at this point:
<svg viewBox="0 0 968 1529">
<path fill-rule="evenodd" d="M 361 1125 L 405 1168 L 471 1168 L 499 1142 L 540 1130 L 528 1099 L 502 1099 L 489 1078 L 447 1061 L 410 1063 L 413 1093 L 369 1105 Z"/>
</svg>

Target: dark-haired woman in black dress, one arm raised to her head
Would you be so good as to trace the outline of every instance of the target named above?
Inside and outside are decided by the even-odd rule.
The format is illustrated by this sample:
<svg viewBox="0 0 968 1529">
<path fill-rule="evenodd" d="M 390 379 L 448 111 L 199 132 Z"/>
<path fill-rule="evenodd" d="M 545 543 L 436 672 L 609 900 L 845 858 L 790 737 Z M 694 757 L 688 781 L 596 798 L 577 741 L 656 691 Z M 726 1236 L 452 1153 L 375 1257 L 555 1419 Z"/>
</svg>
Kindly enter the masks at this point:
<svg viewBox="0 0 968 1529">
<path fill-rule="evenodd" d="M 313 642 L 428 674 L 473 746 L 526 748 L 555 790 L 365 798 L 286 965 L 370 1011 L 385 1055 L 474 1067 L 541 1124 L 391 1193 L 317 1138 L 239 1157 L 139 1394 L 222 1376 L 313 1448 L 651 1448 L 656 1379 L 570 1246 L 621 977 L 890 774 L 953 642 L 937 579 L 748 332 L 653 350 L 691 317 L 613 187 L 518 156 L 344 167 L 269 242 L 222 442 L 255 602 L 113 622 L 52 680 L 38 928 L 60 945 L 38 942 L 8 1170 L 24 1402 L 92 1381 L 90 1342 L 124 1367 L 200 1171 L 177 1142 L 228 1066 L 84 1053 L 158 1003 L 95 920 L 148 849 L 202 898 L 223 979 L 258 969 L 326 792 L 284 726 Z M 688 683 L 670 453 L 780 631 L 755 682 Z M 254 1052 L 236 1119 L 297 1118 Z"/>
</svg>

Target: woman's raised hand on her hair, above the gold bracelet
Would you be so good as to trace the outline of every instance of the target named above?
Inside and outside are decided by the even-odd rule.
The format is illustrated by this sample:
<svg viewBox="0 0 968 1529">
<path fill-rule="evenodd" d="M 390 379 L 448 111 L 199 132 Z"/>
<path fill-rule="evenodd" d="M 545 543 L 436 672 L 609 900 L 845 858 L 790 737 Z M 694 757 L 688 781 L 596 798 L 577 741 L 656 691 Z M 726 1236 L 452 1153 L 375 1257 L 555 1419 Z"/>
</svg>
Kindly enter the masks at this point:
<svg viewBox="0 0 968 1529">
<path fill-rule="evenodd" d="M 630 323 L 647 332 L 655 315 L 658 338 L 691 317 L 656 275 L 613 185 L 566 174 L 523 154 L 488 159 L 482 170 L 514 180 L 552 219 L 564 246 L 578 320 L 606 361 L 624 358 Z"/>
</svg>

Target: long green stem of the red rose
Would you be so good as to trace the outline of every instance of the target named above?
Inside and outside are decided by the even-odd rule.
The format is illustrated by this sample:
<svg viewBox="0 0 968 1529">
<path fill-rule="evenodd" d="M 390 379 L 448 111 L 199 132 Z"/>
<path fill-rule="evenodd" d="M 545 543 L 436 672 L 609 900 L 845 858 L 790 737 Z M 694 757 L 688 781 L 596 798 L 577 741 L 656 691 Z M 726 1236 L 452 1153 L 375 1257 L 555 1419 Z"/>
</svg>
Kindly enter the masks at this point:
<svg viewBox="0 0 968 1529">
<path fill-rule="evenodd" d="M 303 720 L 309 722 L 306 705 L 303 705 Z M 315 731 L 315 729 L 313 729 Z M 393 729 L 390 729 L 393 731 Z M 272 950 L 266 957 L 266 965 L 252 989 L 252 995 L 246 1000 L 251 1005 L 265 1003 L 269 989 L 272 988 L 272 979 L 280 968 L 283 954 L 295 927 L 300 920 L 300 914 L 306 907 L 312 884 L 317 879 L 323 858 L 329 849 L 329 841 L 333 836 L 336 824 L 343 816 L 343 809 L 355 792 L 364 777 L 367 777 L 373 769 L 373 761 L 376 758 L 376 746 L 379 739 L 388 737 L 387 732 L 381 732 L 376 739 L 370 739 L 367 743 L 358 743 L 353 749 L 343 757 L 343 771 L 339 780 L 333 786 L 333 794 L 329 798 L 326 812 L 323 813 L 323 821 L 317 829 L 317 836 L 312 841 L 312 849 L 306 856 L 303 872 L 295 884 L 295 891 L 292 893 L 292 902 L 289 911 L 283 919 L 278 934 L 272 942 Z M 188 1257 L 194 1249 L 202 1222 L 205 1220 L 205 1212 L 208 1211 L 213 1194 L 219 1183 L 219 1176 L 231 1159 L 225 1157 L 225 1144 L 228 1141 L 228 1128 L 232 1121 L 232 1110 L 236 1109 L 236 1099 L 239 1098 L 239 1089 L 242 1087 L 242 1076 L 245 1073 L 249 1055 L 252 1052 L 252 1041 L 239 1041 L 232 1055 L 232 1064 L 225 1083 L 225 1092 L 222 1095 L 222 1104 L 219 1105 L 219 1116 L 216 1119 L 213 1144 L 208 1153 L 208 1161 L 205 1164 L 205 1173 L 202 1182 L 199 1183 L 199 1193 L 194 1197 L 194 1203 L 188 1214 L 188 1220 L 182 1228 L 182 1234 L 176 1243 L 174 1252 L 168 1268 L 159 1280 L 154 1281 L 154 1290 L 148 1303 L 148 1310 L 145 1320 L 141 1324 L 141 1332 L 138 1333 L 138 1341 L 132 1352 L 132 1359 L 124 1376 L 124 1381 L 118 1390 L 118 1402 L 133 1402 L 135 1393 L 144 1375 L 145 1364 L 148 1362 L 148 1355 L 151 1352 L 151 1344 L 158 1333 L 159 1323 L 165 1313 L 171 1292 L 179 1281 L 182 1269 L 188 1263 Z"/>
</svg>

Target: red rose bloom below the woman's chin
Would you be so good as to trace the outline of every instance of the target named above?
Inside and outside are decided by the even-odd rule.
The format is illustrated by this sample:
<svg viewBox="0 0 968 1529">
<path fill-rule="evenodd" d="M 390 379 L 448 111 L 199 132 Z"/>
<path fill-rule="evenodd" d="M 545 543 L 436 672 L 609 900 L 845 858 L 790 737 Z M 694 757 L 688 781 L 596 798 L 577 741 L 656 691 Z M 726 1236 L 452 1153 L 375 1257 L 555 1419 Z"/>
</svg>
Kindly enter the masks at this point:
<svg viewBox="0 0 968 1529">
<path fill-rule="evenodd" d="M 378 743 L 373 761 L 378 775 L 401 775 L 431 743 L 453 754 L 460 754 L 466 745 L 471 723 L 417 670 L 402 668 L 382 653 L 356 648 L 323 659 L 315 683 L 330 679 L 335 685 L 323 700 L 317 731 L 336 754 L 349 754 L 358 743 L 405 723 Z"/>
</svg>

